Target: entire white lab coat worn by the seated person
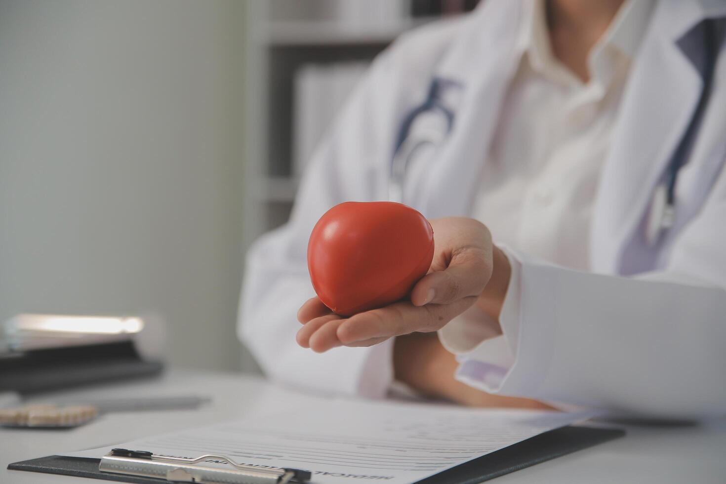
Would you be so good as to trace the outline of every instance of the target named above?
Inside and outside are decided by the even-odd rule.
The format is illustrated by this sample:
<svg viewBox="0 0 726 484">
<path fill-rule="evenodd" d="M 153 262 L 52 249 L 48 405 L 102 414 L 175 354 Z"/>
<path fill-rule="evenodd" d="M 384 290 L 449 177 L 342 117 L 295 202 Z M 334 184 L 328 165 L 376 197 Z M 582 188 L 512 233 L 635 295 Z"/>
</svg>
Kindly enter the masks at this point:
<svg viewBox="0 0 726 484">
<path fill-rule="evenodd" d="M 515 72 L 520 1 L 487 0 L 472 15 L 407 33 L 375 60 L 303 177 L 290 222 L 250 250 L 239 334 L 274 380 L 380 397 L 391 342 L 299 348 L 295 313 L 314 295 L 306 245 L 314 223 L 346 200 L 386 200 L 404 116 L 432 76 L 465 86 L 454 128 L 431 160 L 409 168 L 408 205 L 428 218 L 470 215 L 476 181 Z M 621 102 L 592 218 L 592 273 L 522 258 L 516 361 L 499 393 L 609 409 L 689 416 L 726 412 L 726 54 L 677 185 L 677 216 L 650 247 L 653 190 L 690 120 L 701 77 L 678 41 L 719 0 L 658 0 Z M 476 384 L 476 383 L 475 383 Z"/>
</svg>

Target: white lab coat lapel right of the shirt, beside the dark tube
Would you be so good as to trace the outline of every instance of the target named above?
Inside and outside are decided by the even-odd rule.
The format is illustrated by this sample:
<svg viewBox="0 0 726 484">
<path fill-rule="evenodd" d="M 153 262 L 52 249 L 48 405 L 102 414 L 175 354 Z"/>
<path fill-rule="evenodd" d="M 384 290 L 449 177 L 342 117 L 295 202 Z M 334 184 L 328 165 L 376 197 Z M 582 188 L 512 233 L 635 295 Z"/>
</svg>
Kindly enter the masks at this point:
<svg viewBox="0 0 726 484">
<path fill-rule="evenodd" d="M 627 275 L 655 261 L 653 250 L 643 250 L 640 225 L 701 92 L 701 77 L 677 40 L 702 15 L 696 2 L 661 1 L 643 37 L 595 200 L 594 271 Z M 638 257 L 625 257 L 633 244 L 640 244 Z"/>
</svg>

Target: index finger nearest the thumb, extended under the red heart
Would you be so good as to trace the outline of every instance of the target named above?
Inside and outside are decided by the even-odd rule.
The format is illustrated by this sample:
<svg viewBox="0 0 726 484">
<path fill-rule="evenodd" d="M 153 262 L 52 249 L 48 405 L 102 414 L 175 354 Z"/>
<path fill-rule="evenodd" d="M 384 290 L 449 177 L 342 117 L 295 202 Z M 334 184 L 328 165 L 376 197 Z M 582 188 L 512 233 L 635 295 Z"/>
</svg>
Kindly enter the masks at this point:
<svg viewBox="0 0 726 484">
<path fill-rule="evenodd" d="M 408 302 L 393 303 L 385 308 L 374 309 L 351 316 L 338 327 L 338 340 L 343 345 L 412 332 L 431 332 L 444 327 L 454 316 L 464 312 L 476 302 L 470 296 L 446 305 L 429 304 L 417 307 Z"/>
</svg>

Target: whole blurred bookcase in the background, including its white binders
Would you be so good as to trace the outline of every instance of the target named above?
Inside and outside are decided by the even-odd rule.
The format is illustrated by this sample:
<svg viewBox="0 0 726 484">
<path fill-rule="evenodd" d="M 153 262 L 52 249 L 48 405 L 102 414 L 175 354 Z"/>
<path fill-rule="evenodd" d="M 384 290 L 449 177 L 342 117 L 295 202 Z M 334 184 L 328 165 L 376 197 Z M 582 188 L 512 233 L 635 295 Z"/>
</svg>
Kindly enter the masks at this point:
<svg viewBox="0 0 726 484">
<path fill-rule="evenodd" d="M 246 237 L 290 216 L 298 181 L 370 62 L 412 28 L 474 9 L 478 0 L 260 0 L 250 20 L 250 202 Z M 260 204 L 261 205 L 258 205 Z"/>
</svg>

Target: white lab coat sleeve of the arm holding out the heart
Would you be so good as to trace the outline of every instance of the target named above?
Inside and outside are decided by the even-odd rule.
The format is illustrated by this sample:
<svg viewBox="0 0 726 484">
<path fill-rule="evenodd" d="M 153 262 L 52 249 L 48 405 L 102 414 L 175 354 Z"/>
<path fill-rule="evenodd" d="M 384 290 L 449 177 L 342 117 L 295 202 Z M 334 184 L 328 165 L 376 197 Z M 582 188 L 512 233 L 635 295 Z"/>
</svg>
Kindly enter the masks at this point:
<svg viewBox="0 0 726 484">
<path fill-rule="evenodd" d="M 677 237 L 664 271 L 573 271 L 509 250 L 502 337 L 463 348 L 481 390 L 603 409 L 726 413 L 726 173 Z"/>
</svg>

